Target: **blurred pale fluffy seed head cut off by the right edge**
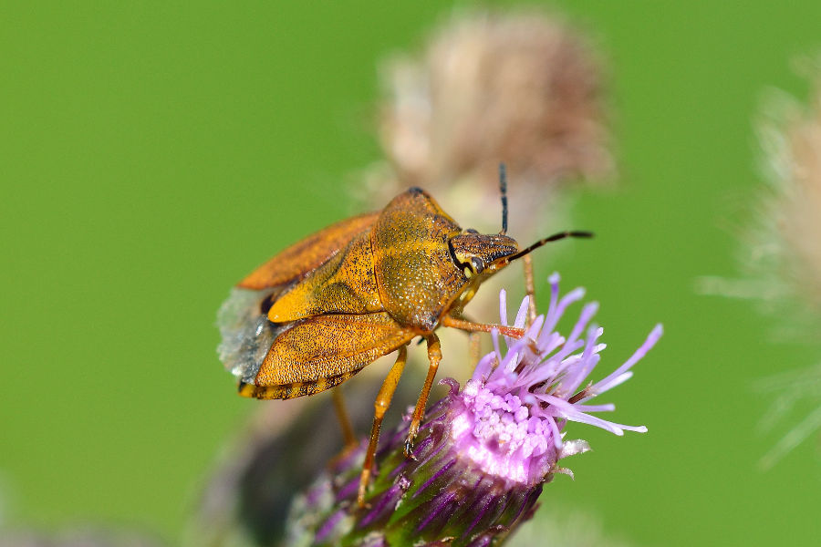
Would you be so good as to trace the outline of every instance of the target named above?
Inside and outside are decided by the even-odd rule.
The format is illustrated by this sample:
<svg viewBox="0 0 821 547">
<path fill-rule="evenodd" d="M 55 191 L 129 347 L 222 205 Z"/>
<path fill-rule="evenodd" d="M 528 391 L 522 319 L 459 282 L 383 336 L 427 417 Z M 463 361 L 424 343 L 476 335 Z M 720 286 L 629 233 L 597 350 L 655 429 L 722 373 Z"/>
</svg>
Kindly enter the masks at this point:
<svg viewBox="0 0 821 547">
<path fill-rule="evenodd" d="M 821 327 L 821 64 L 809 67 L 813 92 L 807 106 L 785 95 L 764 111 L 761 141 L 769 186 L 759 206 L 746 265 L 766 289 L 757 296 L 779 319 L 781 335 L 818 343 Z M 800 421 L 761 460 L 771 467 L 821 428 L 821 364 L 762 379 L 772 397 L 763 431 Z M 795 418 L 798 417 L 798 418 Z"/>
</svg>

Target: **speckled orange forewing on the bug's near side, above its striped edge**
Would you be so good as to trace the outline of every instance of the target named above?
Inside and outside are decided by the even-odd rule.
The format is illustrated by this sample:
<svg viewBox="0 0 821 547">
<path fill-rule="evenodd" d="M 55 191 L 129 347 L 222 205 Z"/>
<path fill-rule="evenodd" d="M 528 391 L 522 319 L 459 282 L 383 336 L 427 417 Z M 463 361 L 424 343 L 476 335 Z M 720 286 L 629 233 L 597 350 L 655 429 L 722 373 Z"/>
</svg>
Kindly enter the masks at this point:
<svg viewBox="0 0 821 547">
<path fill-rule="evenodd" d="M 313 395 L 353 376 L 416 335 L 386 312 L 318 315 L 276 336 L 255 378 L 258 398 Z"/>
</svg>

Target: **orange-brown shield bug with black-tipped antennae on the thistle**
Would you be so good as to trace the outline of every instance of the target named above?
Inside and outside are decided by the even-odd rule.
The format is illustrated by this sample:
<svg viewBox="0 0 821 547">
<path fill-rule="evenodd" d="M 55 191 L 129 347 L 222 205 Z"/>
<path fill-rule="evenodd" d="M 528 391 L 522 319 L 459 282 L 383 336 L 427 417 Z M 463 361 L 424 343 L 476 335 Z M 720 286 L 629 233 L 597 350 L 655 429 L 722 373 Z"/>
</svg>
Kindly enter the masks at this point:
<svg viewBox="0 0 821 547">
<path fill-rule="evenodd" d="M 411 340 L 425 340 L 430 366 L 411 418 L 409 457 L 442 359 L 436 329 L 523 335 L 465 319 L 465 304 L 486 279 L 535 248 L 590 235 L 561 232 L 520 249 L 505 234 L 504 170 L 502 189 L 500 233 L 462 230 L 430 195 L 411 188 L 382 211 L 338 222 L 286 248 L 237 284 L 220 309 L 220 358 L 239 378 L 244 397 L 314 395 L 398 351 L 375 403 L 360 505 Z"/>
</svg>

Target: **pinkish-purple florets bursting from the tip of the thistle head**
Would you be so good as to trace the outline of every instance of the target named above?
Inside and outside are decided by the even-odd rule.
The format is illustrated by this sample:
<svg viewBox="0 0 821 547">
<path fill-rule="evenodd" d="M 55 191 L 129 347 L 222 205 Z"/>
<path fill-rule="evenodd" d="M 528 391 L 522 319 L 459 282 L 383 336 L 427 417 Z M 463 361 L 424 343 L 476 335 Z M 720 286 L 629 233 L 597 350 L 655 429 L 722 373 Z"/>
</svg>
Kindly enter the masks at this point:
<svg viewBox="0 0 821 547">
<path fill-rule="evenodd" d="M 597 383 L 582 383 L 598 364 L 605 348 L 598 343 L 604 332 L 588 325 L 598 308 L 587 304 L 567 336 L 554 330 L 567 306 L 581 299 L 581 290 L 558 298 L 557 274 L 550 278 L 551 300 L 546 315 L 536 318 L 520 340 L 505 338 L 507 352 L 499 349 L 484 356 L 451 408 L 451 439 L 483 472 L 529 485 L 547 480 L 559 470 L 560 458 L 587 451 L 584 441 L 565 442 L 568 421 L 607 429 L 645 432 L 644 426 L 626 426 L 593 416 L 612 411 L 613 405 L 588 405 L 587 401 L 618 386 L 632 376 L 630 368 L 655 345 L 661 335 L 657 325 L 647 340 L 622 366 Z M 507 325 L 504 291 L 502 323 Z M 527 299 L 519 308 L 514 326 L 525 328 Z M 584 337 L 582 337 L 584 335 Z"/>
</svg>

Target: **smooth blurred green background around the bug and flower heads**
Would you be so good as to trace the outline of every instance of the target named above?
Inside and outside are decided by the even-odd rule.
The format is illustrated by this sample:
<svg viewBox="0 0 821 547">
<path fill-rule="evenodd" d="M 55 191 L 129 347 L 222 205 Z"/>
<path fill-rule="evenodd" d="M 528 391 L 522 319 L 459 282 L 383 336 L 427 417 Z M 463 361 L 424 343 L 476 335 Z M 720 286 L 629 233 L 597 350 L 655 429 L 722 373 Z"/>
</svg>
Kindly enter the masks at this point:
<svg viewBox="0 0 821 547">
<path fill-rule="evenodd" d="M 693 286 L 735 275 L 727 226 L 761 181 L 753 119 L 766 88 L 805 98 L 791 60 L 821 45 L 821 5 L 556 7 L 610 59 L 621 177 L 577 201 L 575 223 L 598 239 L 555 267 L 602 303 L 605 365 L 655 322 L 665 335 L 609 397 L 618 421 L 650 432 L 590 432 L 577 480 L 545 500 L 635 544 L 815 543 L 817 438 L 757 470 L 778 435 L 755 433 L 769 401 L 751 388 L 813 353 L 771 342 L 773 319 L 751 304 Z M 257 404 L 216 359 L 217 307 L 270 254 L 351 212 L 343 181 L 380 155 L 377 63 L 451 11 L 0 3 L 7 525 L 179 537 Z"/>
</svg>

